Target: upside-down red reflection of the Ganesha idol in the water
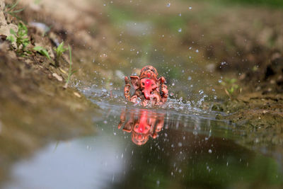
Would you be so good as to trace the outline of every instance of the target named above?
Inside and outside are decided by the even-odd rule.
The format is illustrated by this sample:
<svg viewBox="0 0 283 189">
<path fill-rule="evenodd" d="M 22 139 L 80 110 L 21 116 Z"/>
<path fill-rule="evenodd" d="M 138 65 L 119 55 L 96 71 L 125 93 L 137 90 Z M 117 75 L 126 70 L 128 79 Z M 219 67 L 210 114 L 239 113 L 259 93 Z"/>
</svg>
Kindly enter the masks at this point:
<svg viewBox="0 0 283 189">
<path fill-rule="evenodd" d="M 132 132 L 132 142 L 145 144 L 149 137 L 155 139 L 164 125 L 164 113 L 155 113 L 146 109 L 122 110 L 118 129 Z"/>
</svg>

